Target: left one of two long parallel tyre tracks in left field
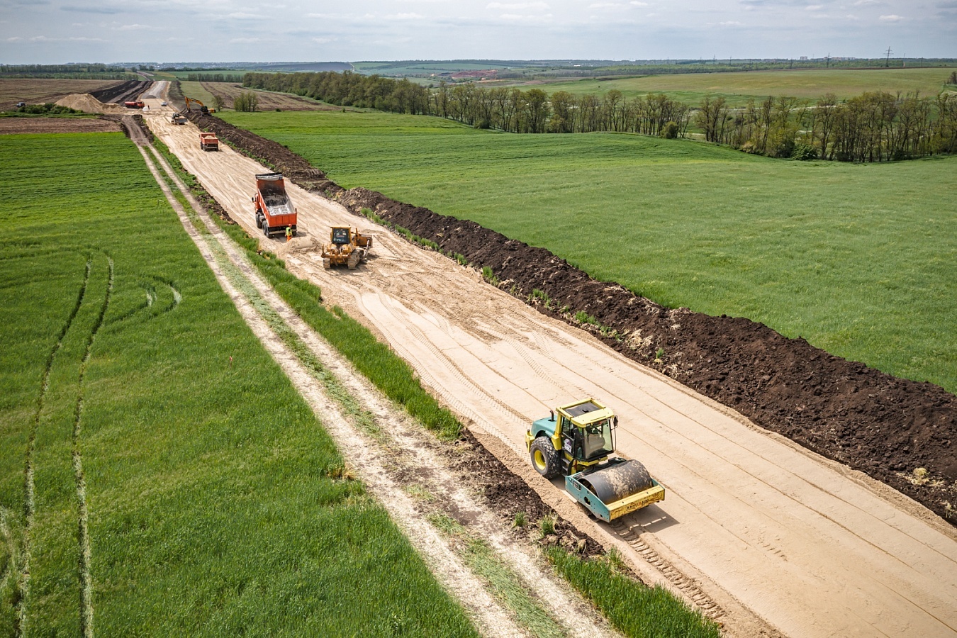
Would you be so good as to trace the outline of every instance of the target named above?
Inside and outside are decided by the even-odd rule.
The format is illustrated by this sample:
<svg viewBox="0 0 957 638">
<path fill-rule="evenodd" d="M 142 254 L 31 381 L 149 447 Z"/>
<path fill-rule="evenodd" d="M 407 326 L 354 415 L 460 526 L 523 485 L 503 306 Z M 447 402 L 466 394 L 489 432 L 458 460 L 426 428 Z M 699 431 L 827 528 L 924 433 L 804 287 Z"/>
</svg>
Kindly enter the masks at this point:
<svg viewBox="0 0 957 638">
<path fill-rule="evenodd" d="M 27 451 L 25 453 L 24 459 L 24 498 L 23 498 L 23 509 L 24 509 L 24 534 L 23 534 L 23 567 L 20 570 L 19 578 L 17 579 L 17 597 L 19 599 L 17 603 L 17 613 L 16 613 L 16 623 L 17 626 L 14 627 L 14 635 L 19 637 L 24 637 L 27 635 L 28 622 L 27 622 L 27 610 L 30 604 L 30 559 L 31 559 L 31 533 L 33 531 L 33 515 L 36 512 L 36 486 L 33 483 L 33 460 L 36 451 L 36 431 L 40 426 L 40 414 L 43 412 L 43 406 L 46 400 L 47 391 L 50 389 L 50 372 L 54 366 L 54 359 L 56 358 L 56 353 L 59 351 L 60 346 L 63 345 L 63 340 L 66 338 L 67 333 L 70 331 L 70 327 L 73 325 L 74 319 L 77 319 L 80 307 L 83 305 L 83 298 L 86 297 L 86 290 L 90 283 L 90 272 L 93 270 L 93 258 L 87 256 L 86 268 L 83 274 L 83 283 L 80 284 L 79 291 L 77 294 L 77 302 L 73 306 L 73 310 L 70 312 L 70 316 L 63 323 L 63 327 L 60 328 L 59 334 L 56 336 L 56 343 L 50 349 L 50 354 L 47 356 L 47 363 L 43 368 L 43 377 L 40 382 L 40 391 L 36 397 L 36 410 L 33 413 L 33 420 L 30 424 L 30 434 L 27 439 Z"/>
</svg>

